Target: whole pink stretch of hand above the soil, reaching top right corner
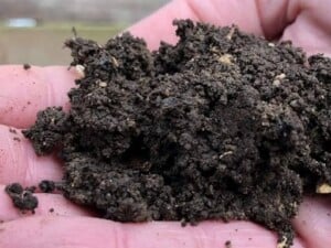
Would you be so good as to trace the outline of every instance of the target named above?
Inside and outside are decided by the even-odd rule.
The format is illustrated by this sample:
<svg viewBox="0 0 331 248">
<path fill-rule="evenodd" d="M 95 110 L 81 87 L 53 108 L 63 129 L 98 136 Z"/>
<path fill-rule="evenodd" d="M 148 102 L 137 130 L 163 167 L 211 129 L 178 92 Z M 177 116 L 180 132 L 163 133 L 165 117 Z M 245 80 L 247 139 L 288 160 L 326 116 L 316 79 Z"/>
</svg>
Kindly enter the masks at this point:
<svg viewBox="0 0 331 248">
<path fill-rule="evenodd" d="M 291 40 L 309 54 L 331 56 L 331 2 L 323 0 L 174 0 L 130 28 L 143 36 L 150 48 L 160 40 L 177 41 L 173 19 L 190 18 L 216 25 L 235 23 L 242 30 L 268 40 Z"/>
</svg>

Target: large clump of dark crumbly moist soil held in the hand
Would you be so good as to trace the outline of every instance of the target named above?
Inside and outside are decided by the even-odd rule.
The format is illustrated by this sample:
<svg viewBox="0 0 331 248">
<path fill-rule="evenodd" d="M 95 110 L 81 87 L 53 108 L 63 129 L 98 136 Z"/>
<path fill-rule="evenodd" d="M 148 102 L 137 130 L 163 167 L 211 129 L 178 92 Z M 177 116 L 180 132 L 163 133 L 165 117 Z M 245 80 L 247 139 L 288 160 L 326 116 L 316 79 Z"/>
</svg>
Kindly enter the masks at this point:
<svg viewBox="0 0 331 248">
<path fill-rule="evenodd" d="M 154 52 L 129 33 L 67 40 L 83 76 L 71 109 L 40 111 L 24 136 L 64 162 L 63 194 L 104 218 L 253 220 L 290 246 L 302 195 L 331 184 L 331 60 L 174 24 L 179 42 Z"/>
</svg>

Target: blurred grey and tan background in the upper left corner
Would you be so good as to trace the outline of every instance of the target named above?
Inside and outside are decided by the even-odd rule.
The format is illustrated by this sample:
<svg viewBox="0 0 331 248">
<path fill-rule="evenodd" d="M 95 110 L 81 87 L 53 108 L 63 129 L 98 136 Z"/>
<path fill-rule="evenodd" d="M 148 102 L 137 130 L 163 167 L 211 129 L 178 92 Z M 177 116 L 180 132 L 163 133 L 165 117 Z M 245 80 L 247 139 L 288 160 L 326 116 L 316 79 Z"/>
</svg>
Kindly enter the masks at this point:
<svg viewBox="0 0 331 248">
<path fill-rule="evenodd" d="M 0 0 L 0 64 L 68 65 L 63 42 L 105 43 L 168 0 Z"/>
</svg>

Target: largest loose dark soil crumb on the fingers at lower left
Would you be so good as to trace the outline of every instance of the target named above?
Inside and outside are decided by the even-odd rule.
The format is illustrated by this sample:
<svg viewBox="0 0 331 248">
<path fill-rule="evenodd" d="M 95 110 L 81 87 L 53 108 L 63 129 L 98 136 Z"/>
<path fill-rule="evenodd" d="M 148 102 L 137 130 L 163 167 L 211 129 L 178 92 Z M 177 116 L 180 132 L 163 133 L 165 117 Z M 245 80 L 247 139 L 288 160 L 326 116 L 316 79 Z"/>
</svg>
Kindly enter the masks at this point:
<svg viewBox="0 0 331 248">
<path fill-rule="evenodd" d="M 26 187 L 25 190 L 19 184 L 13 183 L 6 186 L 7 194 L 11 197 L 15 207 L 21 211 L 31 211 L 38 207 L 38 198 L 32 194 L 33 188 Z"/>
</svg>

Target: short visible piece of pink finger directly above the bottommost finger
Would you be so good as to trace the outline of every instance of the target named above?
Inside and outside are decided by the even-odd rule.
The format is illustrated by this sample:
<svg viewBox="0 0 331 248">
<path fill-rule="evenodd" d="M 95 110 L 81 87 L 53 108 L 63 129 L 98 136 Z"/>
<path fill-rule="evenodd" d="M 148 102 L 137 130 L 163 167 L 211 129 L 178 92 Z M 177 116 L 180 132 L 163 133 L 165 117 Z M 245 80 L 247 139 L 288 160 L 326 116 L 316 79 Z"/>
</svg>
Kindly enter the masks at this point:
<svg viewBox="0 0 331 248">
<path fill-rule="evenodd" d="M 62 195 L 35 193 L 39 204 L 35 208 L 35 216 L 89 216 L 86 209 L 74 205 Z M 0 185 L 0 220 L 8 222 L 21 217 L 31 216 L 32 213 L 22 213 L 13 206 L 11 198 L 4 192 L 4 185 Z M 2 246 L 0 246 L 2 247 Z"/>
</svg>

